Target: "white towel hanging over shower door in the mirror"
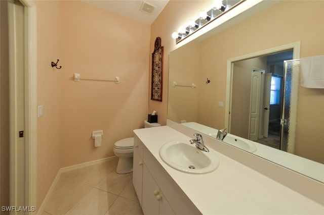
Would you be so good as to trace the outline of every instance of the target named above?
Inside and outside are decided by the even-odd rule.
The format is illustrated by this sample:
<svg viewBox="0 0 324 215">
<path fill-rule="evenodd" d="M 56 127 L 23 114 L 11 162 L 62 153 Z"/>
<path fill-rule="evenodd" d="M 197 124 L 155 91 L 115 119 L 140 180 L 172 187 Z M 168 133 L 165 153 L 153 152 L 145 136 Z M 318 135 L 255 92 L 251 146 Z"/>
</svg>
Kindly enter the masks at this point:
<svg viewBox="0 0 324 215">
<path fill-rule="evenodd" d="M 300 59 L 301 85 L 307 88 L 324 88 L 324 55 Z"/>
</svg>

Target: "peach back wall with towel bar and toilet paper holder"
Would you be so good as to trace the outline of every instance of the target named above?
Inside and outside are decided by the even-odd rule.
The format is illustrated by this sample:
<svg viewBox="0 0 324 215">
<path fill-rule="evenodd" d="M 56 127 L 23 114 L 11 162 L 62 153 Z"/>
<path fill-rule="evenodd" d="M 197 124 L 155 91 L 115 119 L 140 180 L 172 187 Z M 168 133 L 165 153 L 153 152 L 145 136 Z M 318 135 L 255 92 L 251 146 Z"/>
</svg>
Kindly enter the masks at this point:
<svg viewBox="0 0 324 215">
<path fill-rule="evenodd" d="M 61 167 L 113 156 L 113 144 L 143 128 L 148 113 L 149 25 L 94 6 L 61 8 Z M 73 81 L 81 77 L 114 78 Z M 101 147 L 92 131 L 103 130 Z"/>
</svg>

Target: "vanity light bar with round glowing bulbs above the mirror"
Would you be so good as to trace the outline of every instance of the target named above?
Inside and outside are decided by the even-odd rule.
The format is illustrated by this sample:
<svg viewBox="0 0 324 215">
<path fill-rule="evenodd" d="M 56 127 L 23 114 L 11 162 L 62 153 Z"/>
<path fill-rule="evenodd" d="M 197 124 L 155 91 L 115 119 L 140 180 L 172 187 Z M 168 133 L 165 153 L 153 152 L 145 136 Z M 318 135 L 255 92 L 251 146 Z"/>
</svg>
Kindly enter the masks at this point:
<svg viewBox="0 0 324 215">
<path fill-rule="evenodd" d="M 201 10 L 198 14 L 198 19 L 196 19 L 195 21 L 191 19 L 188 21 L 187 26 L 180 26 L 178 32 L 172 33 L 172 38 L 176 40 L 176 43 L 180 42 L 182 39 L 199 30 L 201 27 L 207 25 L 222 14 L 226 13 L 229 9 L 234 8 L 229 5 L 228 2 L 230 2 L 233 6 L 237 6 L 239 3 L 244 1 L 245 0 L 214 1 L 210 10 Z"/>
</svg>

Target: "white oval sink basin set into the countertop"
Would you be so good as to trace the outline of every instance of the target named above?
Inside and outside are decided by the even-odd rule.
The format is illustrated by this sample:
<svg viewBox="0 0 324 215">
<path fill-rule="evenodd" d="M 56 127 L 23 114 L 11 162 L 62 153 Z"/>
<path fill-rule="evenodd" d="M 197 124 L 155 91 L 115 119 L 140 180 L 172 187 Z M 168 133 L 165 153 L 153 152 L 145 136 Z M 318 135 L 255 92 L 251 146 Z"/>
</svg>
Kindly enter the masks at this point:
<svg viewBox="0 0 324 215">
<path fill-rule="evenodd" d="M 170 167 L 185 173 L 210 173 L 219 166 L 218 156 L 213 152 L 205 152 L 189 141 L 171 141 L 164 144 L 159 154 Z"/>
</svg>

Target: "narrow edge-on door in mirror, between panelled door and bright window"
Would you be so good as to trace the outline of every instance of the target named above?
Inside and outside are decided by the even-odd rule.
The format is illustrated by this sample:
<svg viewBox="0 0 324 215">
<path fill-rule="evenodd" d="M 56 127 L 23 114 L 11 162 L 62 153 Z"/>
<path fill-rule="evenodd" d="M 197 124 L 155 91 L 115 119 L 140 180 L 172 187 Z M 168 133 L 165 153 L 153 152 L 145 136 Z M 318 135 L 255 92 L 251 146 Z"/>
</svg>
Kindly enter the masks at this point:
<svg viewBox="0 0 324 215">
<path fill-rule="evenodd" d="M 270 114 L 270 87 L 272 73 L 265 74 L 264 83 L 264 102 L 263 102 L 263 137 L 268 137 L 269 133 L 269 114 Z"/>
</svg>

